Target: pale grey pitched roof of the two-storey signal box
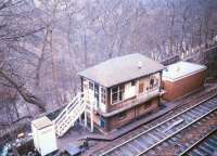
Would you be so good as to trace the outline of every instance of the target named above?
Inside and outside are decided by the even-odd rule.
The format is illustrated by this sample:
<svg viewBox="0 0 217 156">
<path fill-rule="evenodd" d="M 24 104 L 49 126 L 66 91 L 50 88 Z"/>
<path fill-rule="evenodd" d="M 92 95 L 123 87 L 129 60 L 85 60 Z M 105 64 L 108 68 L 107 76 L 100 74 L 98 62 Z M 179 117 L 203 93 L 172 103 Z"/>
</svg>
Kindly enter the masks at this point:
<svg viewBox="0 0 217 156">
<path fill-rule="evenodd" d="M 107 60 L 78 73 L 78 75 L 104 87 L 113 87 L 164 68 L 165 66 L 162 64 L 142 54 L 135 53 Z"/>
</svg>

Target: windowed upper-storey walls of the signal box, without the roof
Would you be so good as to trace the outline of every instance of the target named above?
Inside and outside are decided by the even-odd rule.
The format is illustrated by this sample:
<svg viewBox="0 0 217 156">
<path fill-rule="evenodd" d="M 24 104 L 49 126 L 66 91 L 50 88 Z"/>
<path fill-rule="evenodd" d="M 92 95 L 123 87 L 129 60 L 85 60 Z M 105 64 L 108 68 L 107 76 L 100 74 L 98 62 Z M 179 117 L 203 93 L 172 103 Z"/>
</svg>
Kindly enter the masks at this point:
<svg viewBox="0 0 217 156">
<path fill-rule="evenodd" d="M 162 73 L 152 74 L 139 79 L 124 82 L 111 88 L 102 87 L 82 78 L 82 90 L 88 99 L 94 100 L 94 109 L 106 116 L 133 107 L 142 102 L 156 98 L 161 93 Z"/>
</svg>

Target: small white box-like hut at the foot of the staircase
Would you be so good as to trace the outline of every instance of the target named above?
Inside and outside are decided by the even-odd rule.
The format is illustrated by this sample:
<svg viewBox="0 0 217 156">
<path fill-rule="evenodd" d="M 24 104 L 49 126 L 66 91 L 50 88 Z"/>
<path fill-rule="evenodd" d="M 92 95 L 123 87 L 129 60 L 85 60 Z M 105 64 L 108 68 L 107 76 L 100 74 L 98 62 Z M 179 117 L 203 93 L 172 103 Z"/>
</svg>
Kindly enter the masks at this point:
<svg viewBox="0 0 217 156">
<path fill-rule="evenodd" d="M 51 154 L 58 150 L 55 129 L 53 122 L 47 117 L 40 117 L 31 121 L 34 146 L 41 156 Z"/>
</svg>

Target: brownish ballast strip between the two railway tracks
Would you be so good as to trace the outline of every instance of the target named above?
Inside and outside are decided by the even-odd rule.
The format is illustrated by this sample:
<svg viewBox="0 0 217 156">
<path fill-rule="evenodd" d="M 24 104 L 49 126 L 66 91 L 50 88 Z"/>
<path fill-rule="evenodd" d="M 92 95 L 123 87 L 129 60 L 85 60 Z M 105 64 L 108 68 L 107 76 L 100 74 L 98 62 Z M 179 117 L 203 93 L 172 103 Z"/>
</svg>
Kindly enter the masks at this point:
<svg viewBox="0 0 217 156">
<path fill-rule="evenodd" d="M 204 135 L 213 131 L 217 126 L 217 112 L 199 119 L 189 127 L 178 131 L 170 138 L 158 143 L 156 146 L 142 153 L 143 155 L 180 155 L 189 146 L 201 140 Z M 216 121 L 215 121 L 216 120 Z"/>
</svg>

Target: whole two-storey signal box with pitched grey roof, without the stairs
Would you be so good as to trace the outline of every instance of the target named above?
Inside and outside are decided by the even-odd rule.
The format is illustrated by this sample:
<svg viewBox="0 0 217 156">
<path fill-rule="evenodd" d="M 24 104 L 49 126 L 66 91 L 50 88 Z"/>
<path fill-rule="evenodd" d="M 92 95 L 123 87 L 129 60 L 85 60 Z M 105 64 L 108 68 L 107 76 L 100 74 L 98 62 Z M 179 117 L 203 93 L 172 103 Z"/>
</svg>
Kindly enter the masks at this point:
<svg viewBox="0 0 217 156">
<path fill-rule="evenodd" d="M 139 53 L 80 72 L 81 91 L 93 101 L 93 122 L 111 131 L 158 108 L 165 67 Z"/>
</svg>

